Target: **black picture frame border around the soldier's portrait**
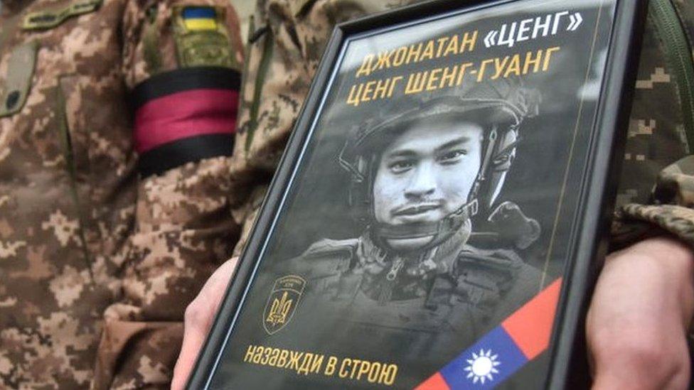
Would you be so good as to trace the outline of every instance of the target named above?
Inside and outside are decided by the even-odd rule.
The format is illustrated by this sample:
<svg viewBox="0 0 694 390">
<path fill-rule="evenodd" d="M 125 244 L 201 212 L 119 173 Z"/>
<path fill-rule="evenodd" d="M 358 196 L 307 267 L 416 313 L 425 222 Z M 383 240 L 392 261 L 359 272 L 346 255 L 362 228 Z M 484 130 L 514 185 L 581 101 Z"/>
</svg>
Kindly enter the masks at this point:
<svg viewBox="0 0 694 390">
<path fill-rule="evenodd" d="M 429 1 L 342 23 L 334 29 L 255 228 L 241 256 L 240 265 L 225 293 L 205 346 L 198 356 L 196 368 L 188 380 L 188 389 L 209 388 L 228 338 L 234 327 L 242 321 L 240 310 L 243 300 L 252 288 L 256 273 L 259 272 L 260 259 L 264 249 L 269 245 L 272 229 L 282 214 L 283 200 L 287 197 L 289 185 L 301 175 L 297 173 L 297 166 L 307 143 L 311 142 L 311 129 L 314 129 L 321 114 L 322 104 L 331 87 L 331 80 L 337 72 L 336 67 L 341 61 L 341 53 L 346 42 L 369 31 L 383 31 L 402 23 L 451 13 L 452 10 L 466 13 L 521 1 L 523 0 Z M 579 209 L 571 222 L 571 232 L 565 243 L 567 260 L 563 268 L 564 281 L 548 352 L 548 374 L 542 382 L 548 389 L 587 384 L 585 352 L 582 346 L 582 318 L 587 311 L 594 279 L 602 266 L 600 259 L 604 259 L 607 254 L 616 179 L 626 141 L 632 86 L 636 79 L 636 64 L 646 16 L 645 0 L 609 1 L 614 1 L 607 43 L 609 55 L 604 64 L 604 76 L 599 88 L 591 135 L 589 139 L 584 140 L 586 158 L 583 166 L 571 168 L 572 171 L 581 171 L 582 183 L 576 199 Z M 565 1 L 566 9 L 570 9 L 570 3 L 571 1 Z M 484 34 L 481 38 L 484 38 Z"/>
</svg>

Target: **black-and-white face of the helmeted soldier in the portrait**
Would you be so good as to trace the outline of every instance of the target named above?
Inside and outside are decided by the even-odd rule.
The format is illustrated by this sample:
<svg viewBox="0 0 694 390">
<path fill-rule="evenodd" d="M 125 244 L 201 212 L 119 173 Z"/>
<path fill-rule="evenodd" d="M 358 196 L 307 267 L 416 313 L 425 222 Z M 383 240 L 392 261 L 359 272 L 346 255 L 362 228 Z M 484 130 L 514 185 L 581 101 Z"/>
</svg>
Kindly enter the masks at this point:
<svg viewBox="0 0 694 390">
<path fill-rule="evenodd" d="M 484 130 L 454 119 L 416 121 L 385 148 L 373 184 L 377 222 L 439 222 L 465 205 L 481 165 Z M 417 249 L 433 237 L 393 239 L 394 249 Z"/>
</svg>

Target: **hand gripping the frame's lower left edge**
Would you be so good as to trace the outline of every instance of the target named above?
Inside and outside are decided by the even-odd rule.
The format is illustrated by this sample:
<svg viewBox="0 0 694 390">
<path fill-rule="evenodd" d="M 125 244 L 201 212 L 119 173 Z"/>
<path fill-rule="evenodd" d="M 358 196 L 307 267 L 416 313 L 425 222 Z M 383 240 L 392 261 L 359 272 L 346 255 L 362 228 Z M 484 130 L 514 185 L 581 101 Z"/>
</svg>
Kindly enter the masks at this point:
<svg viewBox="0 0 694 390">
<path fill-rule="evenodd" d="M 238 257 L 234 257 L 222 264 L 186 308 L 183 345 L 173 368 L 172 390 L 181 390 L 186 386 L 237 263 Z"/>
</svg>

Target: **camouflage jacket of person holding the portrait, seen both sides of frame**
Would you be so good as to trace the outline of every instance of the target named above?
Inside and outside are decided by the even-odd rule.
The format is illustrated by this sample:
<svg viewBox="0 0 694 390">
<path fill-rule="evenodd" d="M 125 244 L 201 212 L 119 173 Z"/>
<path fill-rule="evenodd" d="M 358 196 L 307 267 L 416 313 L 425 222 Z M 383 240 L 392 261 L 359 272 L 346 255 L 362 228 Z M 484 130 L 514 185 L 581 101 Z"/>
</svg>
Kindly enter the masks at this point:
<svg viewBox="0 0 694 390">
<path fill-rule="evenodd" d="M 257 1 L 246 49 L 232 171 L 245 183 L 245 190 L 255 190 L 234 212 L 235 219 L 242 224 L 242 239 L 235 252 L 245 244 L 269 183 L 267 178 L 277 166 L 333 26 L 414 2 L 417 1 Z M 666 169 L 690 153 L 689 143 L 694 136 L 694 108 L 687 95 L 694 91 L 694 86 L 688 85 L 687 75 L 676 72 L 675 65 L 680 64 L 666 45 L 671 37 L 667 34 L 669 26 L 662 21 L 663 12 L 668 11 L 663 6 L 668 5 L 692 47 L 694 2 L 651 1 L 629 129 L 625 129 L 629 134 L 613 223 L 615 248 L 657 232 L 653 224 L 694 244 L 694 215 L 685 208 L 688 205 L 662 205 L 687 199 L 688 187 L 694 186 L 691 164 L 678 165 L 681 171 L 676 180 L 672 172 L 678 168 Z M 685 61 L 690 62 L 690 58 Z M 668 188 L 666 193 L 680 195 L 658 198 L 663 191 L 653 191 L 656 183 L 658 188 Z"/>
</svg>

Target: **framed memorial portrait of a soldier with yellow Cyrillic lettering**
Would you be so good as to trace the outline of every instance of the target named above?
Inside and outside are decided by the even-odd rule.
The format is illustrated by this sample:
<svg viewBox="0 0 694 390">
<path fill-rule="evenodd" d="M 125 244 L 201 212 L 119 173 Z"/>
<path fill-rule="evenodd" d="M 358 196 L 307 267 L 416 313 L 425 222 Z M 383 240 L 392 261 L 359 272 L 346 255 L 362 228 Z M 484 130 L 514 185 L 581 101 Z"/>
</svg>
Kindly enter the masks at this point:
<svg viewBox="0 0 694 390">
<path fill-rule="evenodd" d="M 645 3 L 338 26 L 189 388 L 567 386 Z"/>
</svg>

